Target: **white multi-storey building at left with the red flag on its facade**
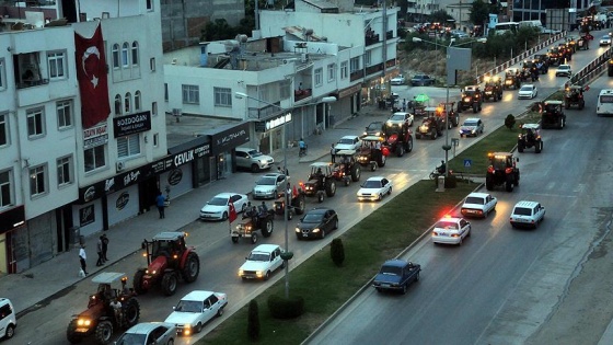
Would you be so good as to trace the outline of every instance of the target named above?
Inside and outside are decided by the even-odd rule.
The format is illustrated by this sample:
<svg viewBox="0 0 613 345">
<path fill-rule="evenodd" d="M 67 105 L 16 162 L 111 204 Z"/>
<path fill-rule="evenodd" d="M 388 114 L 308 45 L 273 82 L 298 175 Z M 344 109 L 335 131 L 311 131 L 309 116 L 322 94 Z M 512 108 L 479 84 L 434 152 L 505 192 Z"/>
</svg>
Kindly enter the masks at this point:
<svg viewBox="0 0 613 345">
<path fill-rule="evenodd" d="M 0 16 L 3 274 L 136 216 L 154 203 L 160 174 L 170 168 L 154 165 L 167 154 L 164 114 L 158 113 L 159 1 L 11 2 L 0 5 Z M 85 55 L 76 56 L 76 34 L 89 38 L 99 25 L 111 114 L 83 128 L 77 76 L 88 66 Z"/>
</svg>

